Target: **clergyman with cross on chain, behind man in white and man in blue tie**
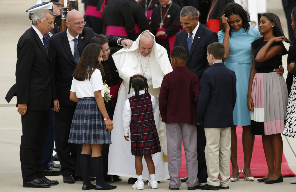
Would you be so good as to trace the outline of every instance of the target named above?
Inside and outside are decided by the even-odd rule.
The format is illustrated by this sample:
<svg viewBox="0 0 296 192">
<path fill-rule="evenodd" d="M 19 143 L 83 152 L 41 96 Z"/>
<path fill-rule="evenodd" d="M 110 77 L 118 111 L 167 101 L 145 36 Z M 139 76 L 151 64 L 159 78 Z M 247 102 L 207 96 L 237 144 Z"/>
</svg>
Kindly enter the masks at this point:
<svg viewBox="0 0 296 192">
<path fill-rule="evenodd" d="M 170 50 L 174 47 L 176 33 L 181 31 L 180 11 L 181 7 L 171 0 L 159 0 L 161 6 L 153 9 L 150 31 L 155 35 L 156 43 L 167 49 L 170 58 Z"/>
</svg>

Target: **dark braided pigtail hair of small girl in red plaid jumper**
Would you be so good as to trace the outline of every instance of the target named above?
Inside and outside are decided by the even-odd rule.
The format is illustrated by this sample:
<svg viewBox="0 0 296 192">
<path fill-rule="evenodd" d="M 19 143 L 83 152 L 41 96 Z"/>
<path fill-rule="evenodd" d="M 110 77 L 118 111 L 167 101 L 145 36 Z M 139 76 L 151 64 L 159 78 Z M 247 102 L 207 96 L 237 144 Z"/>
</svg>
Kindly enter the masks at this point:
<svg viewBox="0 0 296 192">
<path fill-rule="evenodd" d="M 130 93 L 131 85 L 132 85 L 132 88 L 134 88 L 134 90 L 135 90 L 135 96 L 136 96 L 137 100 L 139 100 L 139 91 L 140 90 L 145 89 L 145 93 L 149 94 L 149 92 L 148 92 L 149 86 L 148 86 L 146 77 L 143 77 L 142 75 L 135 75 L 135 76 L 130 77 L 129 78 L 129 92 L 127 94 Z"/>
</svg>

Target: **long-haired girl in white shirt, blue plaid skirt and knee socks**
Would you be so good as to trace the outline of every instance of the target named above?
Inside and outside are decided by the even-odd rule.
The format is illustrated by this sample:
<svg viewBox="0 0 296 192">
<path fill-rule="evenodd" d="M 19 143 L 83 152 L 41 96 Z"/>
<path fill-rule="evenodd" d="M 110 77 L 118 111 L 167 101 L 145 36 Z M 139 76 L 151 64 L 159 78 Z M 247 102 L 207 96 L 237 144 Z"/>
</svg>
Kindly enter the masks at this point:
<svg viewBox="0 0 296 192">
<path fill-rule="evenodd" d="M 90 43 L 85 47 L 73 73 L 70 99 L 77 102 L 71 125 L 69 143 L 83 144 L 80 167 L 83 177 L 82 190 L 115 189 L 103 179 L 103 164 L 101 149 L 104 143 L 111 143 L 110 132 L 112 121 L 106 111 L 103 101 L 104 90 L 100 62 L 102 47 Z M 91 157 L 90 157 L 91 154 Z M 91 164 L 96 176 L 96 185 L 89 179 Z"/>
</svg>

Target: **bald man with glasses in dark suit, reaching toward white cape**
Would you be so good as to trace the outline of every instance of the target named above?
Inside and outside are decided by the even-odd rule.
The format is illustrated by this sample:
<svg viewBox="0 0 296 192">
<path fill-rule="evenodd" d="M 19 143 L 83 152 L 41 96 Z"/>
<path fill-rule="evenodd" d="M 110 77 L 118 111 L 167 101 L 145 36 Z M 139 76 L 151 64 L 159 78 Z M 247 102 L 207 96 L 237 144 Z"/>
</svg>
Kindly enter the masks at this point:
<svg viewBox="0 0 296 192">
<path fill-rule="evenodd" d="M 75 183 L 73 176 L 77 155 L 77 145 L 68 143 L 76 107 L 76 103 L 69 99 L 72 74 L 84 47 L 97 35 L 91 28 L 83 28 L 84 24 L 83 15 L 77 10 L 72 10 L 66 16 L 68 28 L 53 35 L 48 41 L 52 57 L 54 137 L 65 183 Z M 120 43 L 130 47 L 132 44 L 131 40 L 108 38 L 110 46 L 118 46 Z"/>
</svg>

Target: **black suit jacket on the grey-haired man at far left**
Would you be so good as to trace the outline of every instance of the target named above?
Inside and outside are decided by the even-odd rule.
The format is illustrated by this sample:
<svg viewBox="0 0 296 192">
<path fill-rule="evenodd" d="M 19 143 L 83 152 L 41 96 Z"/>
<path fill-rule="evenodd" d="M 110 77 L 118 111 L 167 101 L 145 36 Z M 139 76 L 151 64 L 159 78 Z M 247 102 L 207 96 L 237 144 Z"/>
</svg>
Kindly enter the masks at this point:
<svg viewBox="0 0 296 192">
<path fill-rule="evenodd" d="M 26 103 L 29 110 L 49 110 L 51 56 L 33 27 L 19 38 L 16 54 L 16 86 L 12 87 L 12 94 L 16 95 L 17 104 Z"/>
</svg>

